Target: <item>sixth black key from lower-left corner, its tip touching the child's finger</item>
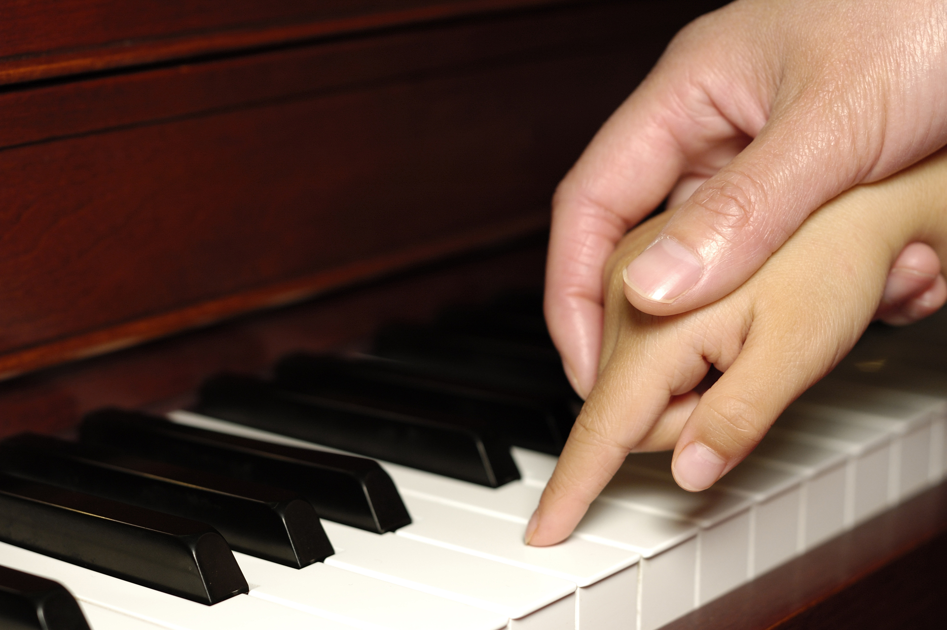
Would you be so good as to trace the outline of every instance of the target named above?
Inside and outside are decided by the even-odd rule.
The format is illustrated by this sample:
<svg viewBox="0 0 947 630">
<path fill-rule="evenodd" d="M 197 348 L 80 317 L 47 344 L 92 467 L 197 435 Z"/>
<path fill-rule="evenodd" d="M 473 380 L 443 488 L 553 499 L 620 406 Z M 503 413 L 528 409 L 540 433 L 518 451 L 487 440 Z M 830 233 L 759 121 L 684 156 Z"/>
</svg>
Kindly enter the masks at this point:
<svg viewBox="0 0 947 630">
<path fill-rule="evenodd" d="M 275 385 L 326 398 L 359 396 L 366 405 L 382 408 L 404 405 L 431 418 L 449 413 L 487 423 L 516 446 L 551 455 L 563 450 L 575 421 L 563 405 L 425 378 L 401 369 L 402 365 L 371 358 L 295 354 L 277 365 Z"/>
</svg>

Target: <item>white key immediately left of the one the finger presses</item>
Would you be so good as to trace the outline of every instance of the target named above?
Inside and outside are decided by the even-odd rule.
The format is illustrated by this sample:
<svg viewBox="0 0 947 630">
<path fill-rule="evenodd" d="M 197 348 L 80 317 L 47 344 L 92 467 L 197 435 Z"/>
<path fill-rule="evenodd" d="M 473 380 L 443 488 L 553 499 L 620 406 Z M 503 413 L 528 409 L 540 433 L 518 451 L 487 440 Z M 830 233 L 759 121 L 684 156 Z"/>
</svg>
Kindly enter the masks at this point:
<svg viewBox="0 0 947 630">
<path fill-rule="evenodd" d="M 565 616 L 557 625 L 575 622 L 575 602 L 560 603 L 575 593 L 571 582 L 394 534 L 376 536 L 334 523 L 326 529 L 340 549 L 327 563 L 332 567 L 490 610 L 513 620 L 511 628 L 525 627 L 530 620 L 524 618 L 553 603 L 559 603 L 558 616 Z"/>
</svg>

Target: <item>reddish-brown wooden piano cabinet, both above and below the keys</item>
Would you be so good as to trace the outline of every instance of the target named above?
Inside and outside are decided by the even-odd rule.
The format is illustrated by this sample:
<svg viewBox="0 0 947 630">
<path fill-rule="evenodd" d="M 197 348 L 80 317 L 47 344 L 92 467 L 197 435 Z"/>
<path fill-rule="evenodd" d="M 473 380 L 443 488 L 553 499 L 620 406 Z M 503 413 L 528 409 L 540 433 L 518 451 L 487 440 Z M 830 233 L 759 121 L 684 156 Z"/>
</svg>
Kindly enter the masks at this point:
<svg viewBox="0 0 947 630">
<path fill-rule="evenodd" d="M 722 4 L 3 3 L 0 436 L 541 287 L 556 183 Z M 945 531 L 941 485 L 668 630 L 942 625 Z"/>
</svg>

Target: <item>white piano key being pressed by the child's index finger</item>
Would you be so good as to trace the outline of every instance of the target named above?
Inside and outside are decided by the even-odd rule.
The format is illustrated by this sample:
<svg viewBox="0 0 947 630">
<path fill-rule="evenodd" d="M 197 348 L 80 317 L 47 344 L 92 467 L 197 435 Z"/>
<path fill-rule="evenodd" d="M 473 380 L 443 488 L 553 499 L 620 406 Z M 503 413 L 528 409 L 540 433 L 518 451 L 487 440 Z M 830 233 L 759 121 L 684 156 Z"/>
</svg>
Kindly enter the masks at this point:
<svg viewBox="0 0 947 630">
<path fill-rule="evenodd" d="M 415 522 L 395 535 L 539 571 L 579 586 L 578 627 L 627 627 L 637 609 L 638 561 L 632 551 L 571 537 L 553 547 L 523 544 L 523 526 L 486 514 L 405 495 Z M 687 545 L 687 544 L 686 544 Z M 691 566 L 691 575 L 693 575 Z M 692 604 L 692 601 L 691 601 Z M 603 625 L 592 625 L 610 620 Z"/>
</svg>

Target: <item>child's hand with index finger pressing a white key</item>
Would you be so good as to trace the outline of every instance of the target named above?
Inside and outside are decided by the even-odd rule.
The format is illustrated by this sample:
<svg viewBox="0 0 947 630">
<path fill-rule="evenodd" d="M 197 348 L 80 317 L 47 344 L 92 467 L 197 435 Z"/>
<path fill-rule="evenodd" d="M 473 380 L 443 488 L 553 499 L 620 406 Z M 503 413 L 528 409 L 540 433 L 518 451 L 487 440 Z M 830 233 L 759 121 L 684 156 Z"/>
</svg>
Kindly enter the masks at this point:
<svg viewBox="0 0 947 630">
<path fill-rule="evenodd" d="M 646 315 L 622 271 L 671 214 L 626 235 L 606 265 L 599 380 L 527 526 L 532 545 L 571 533 L 630 451 L 674 448 L 674 477 L 692 491 L 746 457 L 858 340 L 904 246 L 947 253 L 947 152 L 826 204 L 730 295 Z M 711 366 L 723 375 L 698 395 Z"/>
</svg>

